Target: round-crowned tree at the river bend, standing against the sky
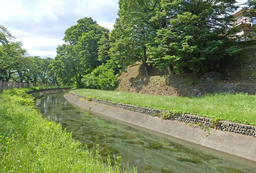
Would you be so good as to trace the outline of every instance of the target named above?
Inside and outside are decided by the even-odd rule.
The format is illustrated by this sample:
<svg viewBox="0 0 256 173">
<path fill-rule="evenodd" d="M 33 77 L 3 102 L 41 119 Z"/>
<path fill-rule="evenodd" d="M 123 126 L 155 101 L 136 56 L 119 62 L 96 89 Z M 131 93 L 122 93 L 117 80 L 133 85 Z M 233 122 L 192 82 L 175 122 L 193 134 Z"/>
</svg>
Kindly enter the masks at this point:
<svg viewBox="0 0 256 173">
<path fill-rule="evenodd" d="M 66 43 L 57 47 L 57 56 L 50 65 L 62 83 L 75 82 L 78 88 L 82 87 L 82 76 L 101 65 L 97 46 L 108 32 L 92 18 L 86 17 L 65 31 L 63 40 Z"/>
</svg>

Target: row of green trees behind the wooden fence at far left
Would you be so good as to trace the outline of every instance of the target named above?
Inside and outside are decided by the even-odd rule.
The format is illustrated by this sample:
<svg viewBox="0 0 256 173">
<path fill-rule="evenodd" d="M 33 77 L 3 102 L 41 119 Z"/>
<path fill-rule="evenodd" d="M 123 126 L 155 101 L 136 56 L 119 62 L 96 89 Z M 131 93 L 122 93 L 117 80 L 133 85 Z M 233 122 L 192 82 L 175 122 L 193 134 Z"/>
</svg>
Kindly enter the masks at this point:
<svg viewBox="0 0 256 173">
<path fill-rule="evenodd" d="M 52 58 L 30 56 L 22 49 L 22 43 L 0 25 L 0 81 L 58 83 L 51 70 Z"/>
</svg>

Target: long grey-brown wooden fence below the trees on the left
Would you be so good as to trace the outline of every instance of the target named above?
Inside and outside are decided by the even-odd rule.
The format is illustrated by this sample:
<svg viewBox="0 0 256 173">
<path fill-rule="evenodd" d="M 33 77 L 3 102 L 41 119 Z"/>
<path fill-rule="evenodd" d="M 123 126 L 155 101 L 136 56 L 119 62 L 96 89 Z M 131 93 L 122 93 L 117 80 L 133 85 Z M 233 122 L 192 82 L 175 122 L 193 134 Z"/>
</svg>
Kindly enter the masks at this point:
<svg viewBox="0 0 256 173">
<path fill-rule="evenodd" d="M 33 86 L 56 86 L 56 84 L 52 83 L 27 83 L 27 82 L 2 82 L 0 81 L 0 92 L 7 89 L 13 89 L 13 88 L 27 88 L 27 87 L 33 87 Z"/>
</svg>

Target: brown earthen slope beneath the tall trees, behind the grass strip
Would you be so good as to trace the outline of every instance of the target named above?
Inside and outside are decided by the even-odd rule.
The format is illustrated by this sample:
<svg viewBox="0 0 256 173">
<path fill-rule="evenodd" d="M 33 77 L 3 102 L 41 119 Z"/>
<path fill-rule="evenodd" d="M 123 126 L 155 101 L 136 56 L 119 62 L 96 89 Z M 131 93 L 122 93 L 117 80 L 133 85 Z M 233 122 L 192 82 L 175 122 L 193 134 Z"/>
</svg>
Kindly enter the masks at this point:
<svg viewBox="0 0 256 173">
<path fill-rule="evenodd" d="M 199 74 L 168 75 L 151 67 L 146 77 L 144 67 L 126 67 L 118 77 L 117 91 L 152 95 L 202 96 L 215 92 L 256 93 L 256 41 L 237 43 L 241 51 L 221 63 L 218 71 Z"/>
</svg>

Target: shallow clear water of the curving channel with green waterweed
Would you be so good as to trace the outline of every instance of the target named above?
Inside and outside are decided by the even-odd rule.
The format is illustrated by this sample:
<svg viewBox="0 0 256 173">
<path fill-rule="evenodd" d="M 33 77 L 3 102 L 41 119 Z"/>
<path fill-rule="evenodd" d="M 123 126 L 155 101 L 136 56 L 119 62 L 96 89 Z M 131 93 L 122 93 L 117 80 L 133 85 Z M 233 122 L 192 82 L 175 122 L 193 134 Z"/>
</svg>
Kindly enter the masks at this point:
<svg viewBox="0 0 256 173">
<path fill-rule="evenodd" d="M 76 140 L 89 147 L 100 144 L 102 155 L 122 156 L 124 161 L 137 166 L 138 172 L 251 173 L 256 170 L 255 162 L 115 122 L 75 106 L 63 95 L 64 92 L 59 92 L 42 96 L 36 100 L 36 106 L 45 118 L 72 132 Z"/>
</svg>

